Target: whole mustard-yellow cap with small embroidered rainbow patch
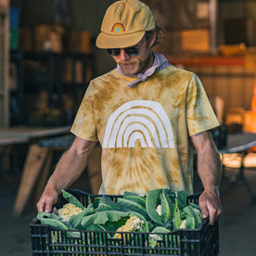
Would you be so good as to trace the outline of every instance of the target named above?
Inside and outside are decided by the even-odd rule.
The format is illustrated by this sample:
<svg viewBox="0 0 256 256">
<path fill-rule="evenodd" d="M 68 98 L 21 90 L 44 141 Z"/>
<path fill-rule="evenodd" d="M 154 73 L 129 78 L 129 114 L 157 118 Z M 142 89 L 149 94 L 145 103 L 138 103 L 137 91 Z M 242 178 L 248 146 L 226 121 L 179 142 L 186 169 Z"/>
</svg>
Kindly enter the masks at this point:
<svg viewBox="0 0 256 256">
<path fill-rule="evenodd" d="M 103 49 L 136 45 L 156 27 L 149 7 L 138 0 L 117 1 L 106 11 L 96 46 Z"/>
</svg>

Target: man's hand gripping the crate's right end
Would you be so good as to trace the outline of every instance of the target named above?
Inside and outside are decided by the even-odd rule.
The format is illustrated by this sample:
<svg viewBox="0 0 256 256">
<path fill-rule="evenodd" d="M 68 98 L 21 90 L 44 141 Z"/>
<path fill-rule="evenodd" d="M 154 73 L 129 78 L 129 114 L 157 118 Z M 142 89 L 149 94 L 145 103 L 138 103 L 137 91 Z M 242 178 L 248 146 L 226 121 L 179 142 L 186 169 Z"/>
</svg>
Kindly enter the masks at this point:
<svg viewBox="0 0 256 256">
<path fill-rule="evenodd" d="M 221 215 L 221 202 L 218 195 L 204 191 L 199 197 L 199 207 L 204 219 L 209 217 L 209 224 L 214 224 Z"/>
</svg>

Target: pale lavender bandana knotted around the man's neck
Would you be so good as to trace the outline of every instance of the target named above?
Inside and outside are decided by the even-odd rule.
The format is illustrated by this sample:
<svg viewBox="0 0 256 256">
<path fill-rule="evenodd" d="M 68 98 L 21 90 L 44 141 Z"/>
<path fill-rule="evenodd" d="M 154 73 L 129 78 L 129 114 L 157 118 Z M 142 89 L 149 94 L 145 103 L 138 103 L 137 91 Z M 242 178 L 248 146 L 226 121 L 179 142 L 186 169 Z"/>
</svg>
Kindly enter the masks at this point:
<svg viewBox="0 0 256 256">
<path fill-rule="evenodd" d="M 137 78 L 132 83 L 129 83 L 127 85 L 127 87 L 135 87 L 138 83 L 140 83 L 142 81 L 146 81 L 147 77 L 151 76 L 154 72 L 159 71 L 159 70 L 163 70 L 163 69 L 171 66 L 170 63 L 168 63 L 167 58 L 165 58 L 163 55 L 161 55 L 157 52 L 153 52 L 153 54 L 154 54 L 154 57 L 155 57 L 154 63 L 145 73 L 138 73 L 136 75 L 127 75 L 127 74 L 124 74 L 122 72 L 121 67 L 119 65 L 117 65 L 117 70 L 122 75 Z"/>
</svg>

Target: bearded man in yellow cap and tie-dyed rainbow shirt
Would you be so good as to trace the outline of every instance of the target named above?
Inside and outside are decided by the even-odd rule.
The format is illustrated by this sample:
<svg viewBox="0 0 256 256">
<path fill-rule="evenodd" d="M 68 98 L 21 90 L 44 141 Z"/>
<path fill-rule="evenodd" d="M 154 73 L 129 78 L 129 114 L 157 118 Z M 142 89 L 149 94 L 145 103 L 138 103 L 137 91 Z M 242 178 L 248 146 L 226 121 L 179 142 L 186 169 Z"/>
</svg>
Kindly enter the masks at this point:
<svg viewBox="0 0 256 256">
<path fill-rule="evenodd" d="M 145 4 L 109 6 L 96 39 L 117 69 L 93 80 L 71 132 L 76 138 L 59 160 L 38 211 L 52 211 L 61 189 L 86 166 L 96 142 L 102 147 L 100 194 L 146 193 L 167 187 L 193 193 L 193 147 L 204 186 L 199 205 L 213 224 L 221 213 L 221 164 L 208 130 L 219 125 L 198 77 L 153 52 L 161 29 Z"/>
</svg>

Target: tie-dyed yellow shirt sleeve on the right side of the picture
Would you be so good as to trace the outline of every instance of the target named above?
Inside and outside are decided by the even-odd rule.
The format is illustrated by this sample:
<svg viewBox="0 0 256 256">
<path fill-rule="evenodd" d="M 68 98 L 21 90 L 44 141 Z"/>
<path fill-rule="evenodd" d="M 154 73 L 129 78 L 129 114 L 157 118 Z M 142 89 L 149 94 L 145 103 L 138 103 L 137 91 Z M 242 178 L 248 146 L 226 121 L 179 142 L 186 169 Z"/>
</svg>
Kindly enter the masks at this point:
<svg viewBox="0 0 256 256">
<path fill-rule="evenodd" d="M 208 96 L 196 74 L 192 75 L 187 87 L 186 122 L 190 136 L 219 125 Z"/>
</svg>

